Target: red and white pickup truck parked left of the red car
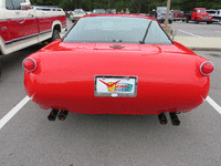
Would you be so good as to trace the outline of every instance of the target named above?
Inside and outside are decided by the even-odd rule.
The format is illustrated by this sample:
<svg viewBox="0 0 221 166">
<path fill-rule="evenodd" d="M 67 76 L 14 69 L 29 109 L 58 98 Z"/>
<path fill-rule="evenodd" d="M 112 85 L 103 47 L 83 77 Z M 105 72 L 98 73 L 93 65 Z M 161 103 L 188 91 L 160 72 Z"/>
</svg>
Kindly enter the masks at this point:
<svg viewBox="0 0 221 166">
<path fill-rule="evenodd" d="M 0 54 L 56 40 L 65 30 L 63 10 L 34 10 L 30 0 L 0 0 Z"/>
</svg>

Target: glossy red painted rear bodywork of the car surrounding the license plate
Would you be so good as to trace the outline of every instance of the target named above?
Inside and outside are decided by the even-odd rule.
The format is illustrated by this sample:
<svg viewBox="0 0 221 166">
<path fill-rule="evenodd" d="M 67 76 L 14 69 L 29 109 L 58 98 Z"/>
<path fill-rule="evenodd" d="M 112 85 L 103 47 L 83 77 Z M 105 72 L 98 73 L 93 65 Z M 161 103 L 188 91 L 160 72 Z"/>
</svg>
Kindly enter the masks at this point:
<svg viewBox="0 0 221 166">
<path fill-rule="evenodd" d="M 200 73 L 207 60 L 181 44 L 109 45 L 57 40 L 30 55 L 38 66 L 24 74 L 28 95 L 44 108 L 92 114 L 188 112 L 207 97 L 210 76 Z M 96 97 L 95 75 L 137 76 L 137 96 Z"/>
</svg>

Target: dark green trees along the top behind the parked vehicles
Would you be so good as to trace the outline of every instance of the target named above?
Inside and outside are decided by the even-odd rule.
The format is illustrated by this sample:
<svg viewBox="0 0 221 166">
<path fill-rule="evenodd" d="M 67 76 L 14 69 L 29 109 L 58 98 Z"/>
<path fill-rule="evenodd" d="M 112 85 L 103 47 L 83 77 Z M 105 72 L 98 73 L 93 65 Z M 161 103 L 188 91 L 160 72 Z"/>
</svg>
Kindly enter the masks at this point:
<svg viewBox="0 0 221 166">
<path fill-rule="evenodd" d="M 133 13 L 149 13 L 156 7 L 166 7 L 167 0 L 31 0 L 32 6 L 59 6 L 64 10 L 82 8 L 85 11 L 93 9 L 129 9 Z M 171 0 L 170 9 L 192 10 L 202 7 L 207 9 L 221 9 L 221 0 Z"/>
</svg>

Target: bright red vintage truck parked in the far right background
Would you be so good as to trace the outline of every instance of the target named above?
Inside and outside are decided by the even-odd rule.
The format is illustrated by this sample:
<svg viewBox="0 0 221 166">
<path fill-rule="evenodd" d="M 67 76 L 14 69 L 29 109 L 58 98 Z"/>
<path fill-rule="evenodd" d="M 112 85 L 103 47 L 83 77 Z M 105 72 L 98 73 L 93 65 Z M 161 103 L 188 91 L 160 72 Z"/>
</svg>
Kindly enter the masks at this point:
<svg viewBox="0 0 221 166">
<path fill-rule="evenodd" d="M 212 23 L 212 15 L 207 12 L 206 8 L 194 8 L 191 13 L 191 18 L 187 19 L 187 23 L 189 21 L 194 21 L 194 23 L 207 22 L 207 24 Z"/>
</svg>

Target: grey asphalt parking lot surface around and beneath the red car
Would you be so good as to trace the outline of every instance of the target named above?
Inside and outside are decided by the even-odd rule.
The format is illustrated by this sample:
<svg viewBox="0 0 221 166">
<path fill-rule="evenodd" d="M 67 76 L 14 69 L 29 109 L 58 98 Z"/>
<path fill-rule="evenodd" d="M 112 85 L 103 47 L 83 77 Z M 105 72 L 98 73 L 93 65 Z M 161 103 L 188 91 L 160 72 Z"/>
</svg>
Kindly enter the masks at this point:
<svg viewBox="0 0 221 166">
<path fill-rule="evenodd" d="M 196 35 L 213 35 L 212 25 L 221 29 L 218 24 L 204 29 L 208 24 L 181 23 L 172 27 Z M 204 101 L 179 114 L 180 126 L 170 122 L 162 126 L 156 115 L 70 114 L 64 122 L 49 122 L 50 111 L 25 97 L 21 66 L 25 56 L 42 46 L 0 56 L 1 166 L 220 166 L 221 52 L 196 51 L 215 66 L 209 96 L 218 106 Z"/>
</svg>

